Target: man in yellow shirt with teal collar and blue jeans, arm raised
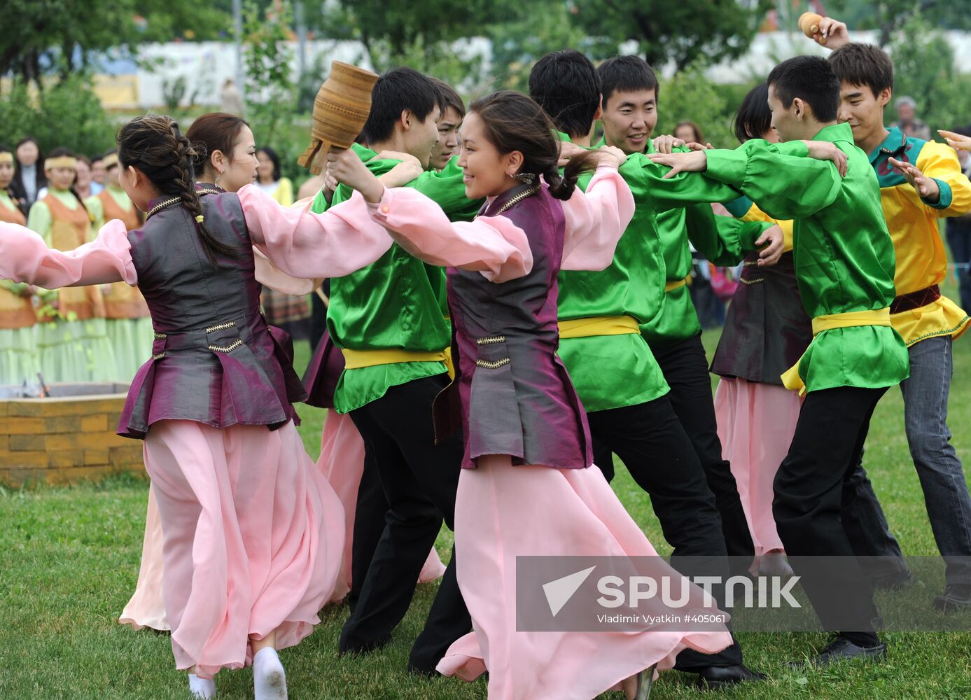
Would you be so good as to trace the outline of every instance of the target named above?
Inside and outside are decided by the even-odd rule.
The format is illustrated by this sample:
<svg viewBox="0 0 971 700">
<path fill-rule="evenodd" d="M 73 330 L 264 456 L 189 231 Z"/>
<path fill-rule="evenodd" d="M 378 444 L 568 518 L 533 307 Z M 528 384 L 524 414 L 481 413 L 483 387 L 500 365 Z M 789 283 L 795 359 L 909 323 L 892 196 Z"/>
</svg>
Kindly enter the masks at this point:
<svg viewBox="0 0 971 700">
<path fill-rule="evenodd" d="M 907 344 L 911 367 L 910 378 L 900 384 L 904 423 L 934 539 L 947 563 L 946 588 L 934 606 L 945 611 L 968 608 L 971 495 L 950 444 L 947 416 L 952 344 L 971 318 L 941 294 L 948 258 L 938 219 L 971 211 L 971 183 L 950 147 L 884 126 L 893 64 L 877 47 L 850 43 L 842 23 L 824 21 L 832 25 L 826 27 L 826 46 L 836 49 L 829 64 L 841 82 L 839 119 L 850 123 L 856 146 L 870 155 L 896 251 L 897 296 L 890 322 Z M 865 510 L 866 504 L 854 508 Z"/>
</svg>

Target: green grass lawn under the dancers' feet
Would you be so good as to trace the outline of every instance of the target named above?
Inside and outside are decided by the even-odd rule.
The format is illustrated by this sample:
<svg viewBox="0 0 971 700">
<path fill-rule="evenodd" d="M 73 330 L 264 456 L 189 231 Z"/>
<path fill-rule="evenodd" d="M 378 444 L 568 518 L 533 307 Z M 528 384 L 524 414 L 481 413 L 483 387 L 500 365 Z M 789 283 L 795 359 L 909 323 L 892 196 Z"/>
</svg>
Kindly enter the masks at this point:
<svg viewBox="0 0 971 700">
<path fill-rule="evenodd" d="M 714 349 L 717 334 L 706 333 Z M 971 341 L 954 346 L 951 427 L 954 446 L 971 460 Z M 307 347 L 298 348 L 298 364 Z M 324 412 L 304 407 L 301 434 L 317 454 Z M 892 389 L 877 409 L 867 442 L 866 467 L 907 554 L 934 554 L 921 486 L 907 450 L 900 392 Z M 661 550 L 648 497 L 622 468 L 614 482 L 620 500 Z M 0 489 L 0 700 L 14 698 L 187 698 L 184 675 L 174 669 L 169 638 L 117 623 L 134 590 L 145 522 L 148 485 L 133 477 L 66 488 Z M 443 532 L 446 552 L 451 533 Z M 323 698 L 485 698 L 485 683 L 416 679 L 405 672 L 411 642 L 427 613 L 434 583 L 420 585 L 395 641 L 364 658 L 337 655 L 347 609 L 330 606 L 303 644 L 283 652 L 289 695 Z M 916 585 L 921 586 L 921 582 Z M 927 584 L 926 615 L 940 592 Z M 806 675 L 786 661 L 811 651 L 815 633 L 740 635 L 746 660 L 770 681 L 740 686 L 726 698 L 961 698 L 971 696 L 971 632 L 887 634 L 889 656 L 880 665 L 854 664 Z M 690 677 L 666 673 L 654 698 L 695 698 Z M 251 697 L 251 673 L 219 674 L 222 698 Z M 603 697 L 622 697 L 619 694 Z"/>
</svg>

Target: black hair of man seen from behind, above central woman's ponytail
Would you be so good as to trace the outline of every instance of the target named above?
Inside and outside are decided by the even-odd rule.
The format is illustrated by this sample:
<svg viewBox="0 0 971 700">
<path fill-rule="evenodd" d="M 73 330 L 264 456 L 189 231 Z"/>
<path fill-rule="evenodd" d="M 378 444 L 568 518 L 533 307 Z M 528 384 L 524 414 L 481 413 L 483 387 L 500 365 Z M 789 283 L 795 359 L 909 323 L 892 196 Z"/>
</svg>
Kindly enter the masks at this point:
<svg viewBox="0 0 971 700">
<path fill-rule="evenodd" d="M 577 50 L 547 53 L 529 72 L 529 96 L 572 138 L 590 132 L 600 92 L 596 68 Z"/>
</svg>

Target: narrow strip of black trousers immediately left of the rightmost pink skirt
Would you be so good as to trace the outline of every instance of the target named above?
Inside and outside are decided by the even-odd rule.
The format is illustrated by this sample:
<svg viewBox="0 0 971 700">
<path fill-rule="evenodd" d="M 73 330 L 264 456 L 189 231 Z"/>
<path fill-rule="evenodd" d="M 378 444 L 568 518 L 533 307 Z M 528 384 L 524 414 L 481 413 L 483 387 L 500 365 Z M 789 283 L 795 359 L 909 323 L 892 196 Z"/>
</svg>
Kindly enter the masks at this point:
<svg viewBox="0 0 971 700">
<path fill-rule="evenodd" d="M 708 486 L 715 494 L 721 514 L 721 531 L 730 556 L 754 556 L 749 523 L 745 519 L 738 486 L 731 466 L 721 458 L 721 441 L 715 419 L 715 400 L 708 374 L 708 360 L 701 336 L 677 343 L 651 346 L 654 359 L 671 387 L 668 397 L 675 415 L 685 428 L 705 471 Z M 743 573 L 736 571 L 733 573 Z"/>
</svg>

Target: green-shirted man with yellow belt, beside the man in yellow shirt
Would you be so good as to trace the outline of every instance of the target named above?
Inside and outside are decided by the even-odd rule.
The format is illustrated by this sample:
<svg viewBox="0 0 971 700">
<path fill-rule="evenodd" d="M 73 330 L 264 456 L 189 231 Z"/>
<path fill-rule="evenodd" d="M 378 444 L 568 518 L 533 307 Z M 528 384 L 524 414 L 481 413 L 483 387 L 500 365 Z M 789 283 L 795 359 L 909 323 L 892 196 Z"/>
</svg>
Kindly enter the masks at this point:
<svg viewBox="0 0 971 700">
<path fill-rule="evenodd" d="M 655 154 L 672 173 L 704 172 L 739 189 L 770 217 L 793 219 L 796 279 L 813 342 L 784 381 L 805 390 L 799 421 L 776 476 L 773 515 L 789 563 L 823 626 L 836 631 L 813 659 L 880 658 L 873 591 L 840 518 L 870 417 L 887 387 L 908 375 L 907 348 L 890 326 L 895 257 L 866 154 L 837 124 L 840 82 L 825 60 L 798 56 L 769 74 L 772 125 L 783 143 L 737 150 Z M 804 156 L 800 140 L 828 141 L 847 157 L 846 176 Z M 822 558 L 825 557 L 825 558 Z"/>
</svg>

